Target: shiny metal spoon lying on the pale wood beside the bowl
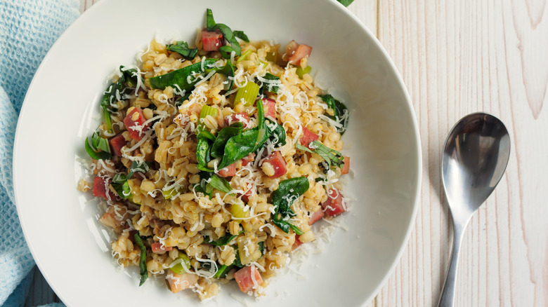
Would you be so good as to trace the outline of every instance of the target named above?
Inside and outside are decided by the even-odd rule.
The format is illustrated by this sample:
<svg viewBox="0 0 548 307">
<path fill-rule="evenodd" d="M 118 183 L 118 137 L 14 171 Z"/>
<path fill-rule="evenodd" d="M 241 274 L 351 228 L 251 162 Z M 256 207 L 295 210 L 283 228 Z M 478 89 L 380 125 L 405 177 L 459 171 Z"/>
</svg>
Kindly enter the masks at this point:
<svg viewBox="0 0 548 307">
<path fill-rule="evenodd" d="M 449 133 L 443 149 L 441 178 L 453 220 L 451 262 L 438 306 L 455 303 L 459 251 L 470 218 L 504 174 L 510 137 L 500 119 L 485 113 L 464 116 Z"/>
</svg>

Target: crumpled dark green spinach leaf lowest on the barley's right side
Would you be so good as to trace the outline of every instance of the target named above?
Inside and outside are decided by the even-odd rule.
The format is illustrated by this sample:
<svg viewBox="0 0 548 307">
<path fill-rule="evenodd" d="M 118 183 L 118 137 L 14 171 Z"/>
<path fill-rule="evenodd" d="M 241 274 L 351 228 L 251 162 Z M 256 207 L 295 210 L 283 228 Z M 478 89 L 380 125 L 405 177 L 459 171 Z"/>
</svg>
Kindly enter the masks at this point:
<svg viewBox="0 0 548 307">
<path fill-rule="evenodd" d="M 298 227 L 289 223 L 287 219 L 295 216 L 295 212 L 291 209 L 291 205 L 295 200 L 301 197 L 301 195 L 308 191 L 309 187 L 308 178 L 296 177 L 283 180 L 278 185 L 278 189 L 272 193 L 272 205 L 275 210 L 272 221 L 276 226 L 280 227 L 282 231 L 289 233 L 289 229 L 291 228 L 297 235 L 300 236 L 303 234 Z"/>
</svg>

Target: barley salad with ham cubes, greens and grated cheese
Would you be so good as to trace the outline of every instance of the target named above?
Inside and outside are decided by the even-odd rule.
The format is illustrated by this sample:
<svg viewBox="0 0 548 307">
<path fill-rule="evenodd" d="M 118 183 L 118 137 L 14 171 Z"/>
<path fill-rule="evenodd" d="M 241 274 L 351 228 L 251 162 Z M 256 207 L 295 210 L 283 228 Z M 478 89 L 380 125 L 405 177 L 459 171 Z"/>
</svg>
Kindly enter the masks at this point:
<svg viewBox="0 0 548 307">
<path fill-rule="evenodd" d="M 348 210 L 348 109 L 314 85 L 311 46 L 206 20 L 195 48 L 152 40 L 119 67 L 78 189 L 101 200 L 112 256 L 139 285 L 158 275 L 204 301 L 235 280 L 260 296 L 316 221 Z"/>
</svg>

